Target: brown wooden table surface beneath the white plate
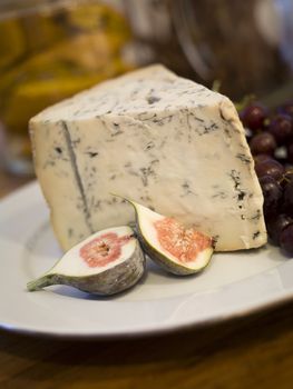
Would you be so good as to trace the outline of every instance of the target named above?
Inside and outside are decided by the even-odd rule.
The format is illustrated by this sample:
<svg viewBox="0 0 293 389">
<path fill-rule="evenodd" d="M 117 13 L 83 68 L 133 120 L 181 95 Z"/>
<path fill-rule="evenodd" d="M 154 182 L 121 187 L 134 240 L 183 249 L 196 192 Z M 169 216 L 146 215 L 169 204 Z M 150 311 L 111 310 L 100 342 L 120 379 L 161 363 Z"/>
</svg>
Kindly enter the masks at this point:
<svg viewBox="0 0 293 389">
<path fill-rule="evenodd" d="M 0 197 L 26 179 L 0 172 Z M 74 341 L 0 331 L 1 388 L 293 388 L 293 303 L 159 337 Z"/>
</svg>

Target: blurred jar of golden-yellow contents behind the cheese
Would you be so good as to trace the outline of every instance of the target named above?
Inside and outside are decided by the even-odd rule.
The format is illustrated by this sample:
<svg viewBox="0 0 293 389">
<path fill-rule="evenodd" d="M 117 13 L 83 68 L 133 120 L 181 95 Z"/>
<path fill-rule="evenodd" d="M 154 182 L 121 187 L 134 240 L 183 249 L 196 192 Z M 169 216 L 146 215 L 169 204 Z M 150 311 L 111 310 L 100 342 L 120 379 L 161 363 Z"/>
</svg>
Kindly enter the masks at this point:
<svg viewBox="0 0 293 389">
<path fill-rule="evenodd" d="M 19 150 L 40 110 L 134 69 L 123 57 L 131 34 L 119 12 L 95 0 L 60 3 L 0 18 L 0 121 Z"/>
</svg>

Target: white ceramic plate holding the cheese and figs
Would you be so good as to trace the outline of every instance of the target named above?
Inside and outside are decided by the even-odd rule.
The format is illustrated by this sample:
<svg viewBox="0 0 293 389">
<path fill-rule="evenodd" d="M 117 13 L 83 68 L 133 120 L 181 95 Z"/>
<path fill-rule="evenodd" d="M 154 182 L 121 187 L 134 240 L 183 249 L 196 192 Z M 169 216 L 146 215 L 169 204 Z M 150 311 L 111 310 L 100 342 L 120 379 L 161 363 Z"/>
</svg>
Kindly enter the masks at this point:
<svg viewBox="0 0 293 389">
<path fill-rule="evenodd" d="M 97 298 L 69 287 L 27 292 L 61 251 L 35 182 L 0 202 L 0 327 L 62 337 L 154 333 L 247 315 L 293 297 L 293 260 L 279 249 L 214 255 L 199 276 L 178 278 L 148 262 L 134 289 Z"/>
</svg>

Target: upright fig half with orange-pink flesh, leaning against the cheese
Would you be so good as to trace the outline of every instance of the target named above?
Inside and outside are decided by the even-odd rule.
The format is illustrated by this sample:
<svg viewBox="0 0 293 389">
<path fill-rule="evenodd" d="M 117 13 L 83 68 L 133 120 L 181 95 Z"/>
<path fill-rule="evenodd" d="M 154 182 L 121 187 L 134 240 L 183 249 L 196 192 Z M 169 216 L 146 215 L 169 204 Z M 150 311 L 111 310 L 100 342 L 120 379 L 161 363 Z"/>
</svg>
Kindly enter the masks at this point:
<svg viewBox="0 0 293 389">
<path fill-rule="evenodd" d="M 196 273 L 207 267 L 214 252 L 211 237 L 137 202 L 129 202 L 136 211 L 139 240 L 150 259 L 179 276 Z"/>
</svg>

